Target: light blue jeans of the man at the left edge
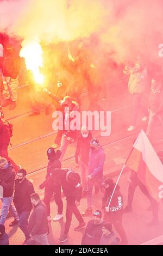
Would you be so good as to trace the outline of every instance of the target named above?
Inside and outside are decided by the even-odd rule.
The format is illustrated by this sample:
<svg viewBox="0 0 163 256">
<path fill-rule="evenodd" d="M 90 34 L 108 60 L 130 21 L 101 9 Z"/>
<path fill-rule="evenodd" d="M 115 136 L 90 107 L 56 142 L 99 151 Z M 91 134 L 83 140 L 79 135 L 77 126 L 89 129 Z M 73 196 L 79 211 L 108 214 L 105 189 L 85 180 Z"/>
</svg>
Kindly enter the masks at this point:
<svg viewBox="0 0 163 256">
<path fill-rule="evenodd" d="M 15 218 L 15 220 L 18 220 L 18 214 L 14 206 L 12 205 L 12 199 L 13 199 L 13 196 L 1 198 L 2 208 L 1 208 L 0 224 L 4 225 L 5 220 L 8 216 L 8 211 L 10 211 L 11 215 Z"/>
</svg>

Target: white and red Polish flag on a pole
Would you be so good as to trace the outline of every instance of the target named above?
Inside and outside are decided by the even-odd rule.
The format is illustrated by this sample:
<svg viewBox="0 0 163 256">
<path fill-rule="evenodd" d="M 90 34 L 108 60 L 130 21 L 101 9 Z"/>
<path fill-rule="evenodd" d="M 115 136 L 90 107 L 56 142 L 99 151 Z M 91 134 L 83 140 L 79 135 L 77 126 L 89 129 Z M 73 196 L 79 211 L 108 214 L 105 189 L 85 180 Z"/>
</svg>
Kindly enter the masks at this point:
<svg viewBox="0 0 163 256">
<path fill-rule="evenodd" d="M 163 198 L 163 165 L 143 130 L 133 145 L 126 166 L 137 173 L 156 201 Z"/>
</svg>

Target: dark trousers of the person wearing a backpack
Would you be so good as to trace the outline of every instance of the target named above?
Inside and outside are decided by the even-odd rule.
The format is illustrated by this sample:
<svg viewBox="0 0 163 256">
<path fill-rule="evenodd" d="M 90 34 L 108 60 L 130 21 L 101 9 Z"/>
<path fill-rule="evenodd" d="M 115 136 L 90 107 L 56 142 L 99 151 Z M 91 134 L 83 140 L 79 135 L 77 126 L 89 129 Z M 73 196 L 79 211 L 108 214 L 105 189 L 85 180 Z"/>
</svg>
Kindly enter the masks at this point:
<svg viewBox="0 0 163 256">
<path fill-rule="evenodd" d="M 80 214 L 77 206 L 76 206 L 76 199 L 73 197 L 66 198 L 67 205 L 66 205 L 66 223 L 65 223 L 65 231 L 64 234 L 67 235 L 70 229 L 71 221 L 72 221 L 72 214 L 76 216 L 79 223 L 83 223 L 84 220 L 82 215 Z"/>
</svg>

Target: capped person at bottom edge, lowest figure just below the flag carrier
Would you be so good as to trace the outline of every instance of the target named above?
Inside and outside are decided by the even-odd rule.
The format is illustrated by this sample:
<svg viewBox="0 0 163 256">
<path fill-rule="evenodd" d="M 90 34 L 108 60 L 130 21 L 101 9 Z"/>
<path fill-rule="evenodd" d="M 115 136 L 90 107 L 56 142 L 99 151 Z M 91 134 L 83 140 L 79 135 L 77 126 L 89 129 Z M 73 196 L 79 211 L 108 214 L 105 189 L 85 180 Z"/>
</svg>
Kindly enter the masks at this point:
<svg viewBox="0 0 163 256">
<path fill-rule="evenodd" d="M 106 222 L 102 227 L 102 237 L 99 242 L 100 245 L 119 245 L 120 239 L 112 231 L 112 224 Z"/>
</svg>

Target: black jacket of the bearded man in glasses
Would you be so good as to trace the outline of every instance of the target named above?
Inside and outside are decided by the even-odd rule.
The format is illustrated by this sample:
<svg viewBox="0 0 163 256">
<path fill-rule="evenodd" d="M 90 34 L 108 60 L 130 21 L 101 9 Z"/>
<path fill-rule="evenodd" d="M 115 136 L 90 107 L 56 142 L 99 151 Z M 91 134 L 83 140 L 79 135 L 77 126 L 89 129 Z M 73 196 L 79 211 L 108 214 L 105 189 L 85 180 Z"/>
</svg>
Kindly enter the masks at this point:
<svg viewBox="0 0 163 256">
<path fill-rule="evenodd" d="M 32 210 L 30 195 L 34 192 L 35 191 L 32 182 L 26 178 L 21 183 L 18 179 L 15 180 L 15 193 L 13 201 L 18 213 Z"/>
</svg>

